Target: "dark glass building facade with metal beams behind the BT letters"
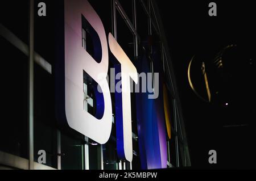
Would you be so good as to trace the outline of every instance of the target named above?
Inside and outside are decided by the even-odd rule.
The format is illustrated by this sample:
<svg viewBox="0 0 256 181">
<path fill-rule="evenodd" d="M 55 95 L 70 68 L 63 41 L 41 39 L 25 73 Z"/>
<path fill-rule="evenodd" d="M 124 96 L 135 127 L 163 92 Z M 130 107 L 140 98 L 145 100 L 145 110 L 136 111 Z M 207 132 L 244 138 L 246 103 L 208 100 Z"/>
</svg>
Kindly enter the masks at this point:
<svg viewBox="0 0 256 181">
<path fill-rule="evenodd" d="M 1 6 L 0 44 L 2 57 L 5 57 L 3 64 L 11 69 L 5 82 L 7 88 L 3 91 L 4 95 L 14 96 L 9 96 L 3 103 L 6 120 L 2 121 L 0 127 L 0 167 L 138 170 L 191 166 L 179 94 L 156 2 L 44 1 L 46 16 L 39 16 L 39 3 L 22 1 L 16 2 L 13 7 L 11 2 L 5 2 Z M 148 91 L 130 94 L 131 133 L 128 135 L 132 136 L 131 162 L 122 155 L 124 143 L 120 138 L 125 140 L 126 135 L 120 134 L 126 128 L 119 122 L 124 115 L 124 111 L 118 112 L 122 100 L 120 94 L 110 93 L 112 125 L 110 137 L 105 144 L 99 144 L 88 135 L 72 129 L 65 120 L 67 118 L 63 119 L 67 115 L 65 108 L 68 104 L 67 97 L 64 98 L 64 71 L 67 68 L 64 59 L 67 56 L 65 45 L 68 38 L 65 33 L 67 19 L 71 19 L 67 12 L 75 14 L 76 8 L 73 5 L 76 3 L 88 6 L 77 8 L 77 13 L 82 15 L 80 43 L 96 62 L 104 54 L 97 47 L 97 43 L 102 43 L 95 29 L 98 24 L 94 26 L 90 23 L 88 15 L 80 12 L 83 10 L 85 14 L 89 10 L 94 11 L 104 27 L 104 36 L 108 39 L 109 33 L 113 35 L 138 73 L 152 73 L 152 77 L 148 78 L 151 80 L 155 80 L 154 73 L 159 74 L 159 79 L 152 81 L 151 85 L 153 93 L 155 86 L 159 86 L 158 98 L 148 99 L 147 96 L 152 94 Z M 13 11 L 10 11 L 11 8 Z M 117 58 L 110 51 L 110 45 L 107 49 L 108 75 L 111 77 L 111 69 L 118 70 L 115 63 Z M 92 86 L 92 77 L 85 70 L 83 80 L 83 111 L 96 118 L 102 117 L 99 112 L 102 105 Z M 134 82 L 131 85 L 135 87 Z M 104 106 L 106 109 L 109 105 Z M 101 134 L 103 130 L 92 132 Z M 42 157 L 44 155 L 45 159 Z"/>
</svg>

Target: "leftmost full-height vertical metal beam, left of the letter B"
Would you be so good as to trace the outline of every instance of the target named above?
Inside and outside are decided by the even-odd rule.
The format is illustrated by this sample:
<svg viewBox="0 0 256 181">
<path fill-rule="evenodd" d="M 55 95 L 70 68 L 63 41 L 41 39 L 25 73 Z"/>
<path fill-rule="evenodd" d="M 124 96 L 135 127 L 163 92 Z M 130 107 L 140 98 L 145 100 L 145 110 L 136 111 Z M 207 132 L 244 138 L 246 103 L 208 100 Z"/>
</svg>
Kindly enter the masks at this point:
<svg viewBox="0 0 256 181">
<path fill-rule="evenodd" d="M 30 0 L 30 51 L 28 62 L 28 159 L 34 170 L 34 0 Z"/>
</svg>

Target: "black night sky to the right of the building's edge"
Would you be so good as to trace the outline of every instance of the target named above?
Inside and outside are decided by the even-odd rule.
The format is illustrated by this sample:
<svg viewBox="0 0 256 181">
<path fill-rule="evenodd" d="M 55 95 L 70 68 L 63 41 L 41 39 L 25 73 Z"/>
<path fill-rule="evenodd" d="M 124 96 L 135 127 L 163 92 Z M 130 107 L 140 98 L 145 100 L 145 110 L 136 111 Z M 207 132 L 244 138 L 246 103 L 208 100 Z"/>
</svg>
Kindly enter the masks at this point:
<svg viewBox="0 0 256 181">
<path fill-rule="evenodd" d="M 208 15 L 210 1 L 158 1 L 170 48 L 184 113 L 193 167 L 213 167 L 208 151 L 217 151 L 217 168 L 255 168 L 255 15 L 253 3 L 217 2 L 217 17 Z M 254 25 L 253 25 L 254 24 Z M 243 48 L 242 57 L 253 65 L 243 68 L 242 58 L 222 96 L 229 106 L 201 101 L 189 87 L 187 69 L 195 54 L 211 57 L 226 45 Z M 212 57 L 213 58 L 213 57 Z M 234 58 L 234 62 L 238 58 Z M 242 62 L 242 63 L 241 63 Z M 254 77 L 254 78 L 253 78 Z M 229 84 L 228 84 L 229 85 Z M 224 128 L 224 125 L 245 124 Z"/>
</svg>

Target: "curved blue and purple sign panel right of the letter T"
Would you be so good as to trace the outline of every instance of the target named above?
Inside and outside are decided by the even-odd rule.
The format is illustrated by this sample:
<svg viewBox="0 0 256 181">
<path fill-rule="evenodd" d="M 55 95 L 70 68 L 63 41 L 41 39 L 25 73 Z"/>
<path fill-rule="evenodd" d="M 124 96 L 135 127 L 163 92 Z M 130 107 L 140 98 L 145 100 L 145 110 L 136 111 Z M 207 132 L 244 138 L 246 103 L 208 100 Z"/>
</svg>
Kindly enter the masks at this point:
<svg viewBox="0 0 256 181">
<path fill-rule="evenodd" d="M 147 43 L 143 44 L 145 47 Z M 154 59 L 154 69 L 161 72 L 160 57 L 155 47 L 152 48 L 152 58 Z M 147 54 L 143 54 L 137 62 L 137 70 L 150 72 Z M 161 76 L 161 75 L 160 75 Z M 159 78 L 159 85 L 163 85 L 162 78 Z M 159 86 L 163 92 L 162 86 Z M 160 169 L 167 167 L 167 142 L 166 125 L 164 116 L 163 94 L 159 94 L 157 99 L 148 99 L 150 92 L 139 92 L 136 94 L 137 107 L 137 128 L 139 155 L 141 158 L 141 169 Z"/>
</svg>

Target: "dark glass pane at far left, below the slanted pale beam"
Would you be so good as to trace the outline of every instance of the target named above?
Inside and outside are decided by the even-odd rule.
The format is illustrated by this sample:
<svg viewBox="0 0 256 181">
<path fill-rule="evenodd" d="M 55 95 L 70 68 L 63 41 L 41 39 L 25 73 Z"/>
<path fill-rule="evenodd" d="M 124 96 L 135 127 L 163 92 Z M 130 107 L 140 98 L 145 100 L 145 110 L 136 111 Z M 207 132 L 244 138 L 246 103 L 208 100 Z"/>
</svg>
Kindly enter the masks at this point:
<svg viewBox="0 0 256 181">
<path fill-rule="evenodd" d="M 28 57 L 0 36 L 1 89 L 4 107 L 0 127 L 0 150 L 28 158 L 27 107 Z M 15 65 L 15 66 L 14 66 Z"/>
</svg>

